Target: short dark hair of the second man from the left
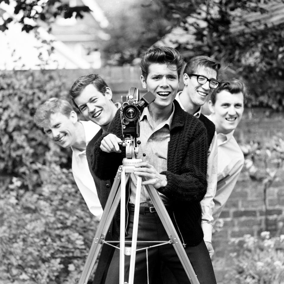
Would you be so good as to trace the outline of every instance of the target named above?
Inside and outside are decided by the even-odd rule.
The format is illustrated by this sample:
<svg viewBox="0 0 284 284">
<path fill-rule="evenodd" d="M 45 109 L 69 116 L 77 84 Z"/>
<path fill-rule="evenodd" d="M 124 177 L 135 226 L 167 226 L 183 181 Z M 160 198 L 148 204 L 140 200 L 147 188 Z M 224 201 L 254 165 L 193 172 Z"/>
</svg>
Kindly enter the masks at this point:
<svg viewBox="0 0 284 284">
<path fill-rule="evenodd" d="M 105 91 L 106 88 L 108 88 L 108 85 L 106 84 L 104 79 L 101 78 L 101 76 L 99 76 L 98 74 L 83 75 L 74 82 L 74 84 L 72 85 L 69 91 L 69 97 L 75 106 L 77 105 L 74 99 L 77 98 L 82 93 L 82 91 L 90 84 L 94 85 L 94 87 L 99 92 L 105 95 Z"/>
</svg>

